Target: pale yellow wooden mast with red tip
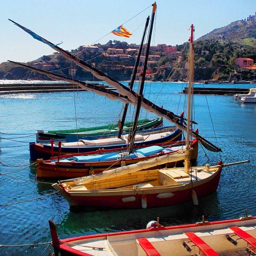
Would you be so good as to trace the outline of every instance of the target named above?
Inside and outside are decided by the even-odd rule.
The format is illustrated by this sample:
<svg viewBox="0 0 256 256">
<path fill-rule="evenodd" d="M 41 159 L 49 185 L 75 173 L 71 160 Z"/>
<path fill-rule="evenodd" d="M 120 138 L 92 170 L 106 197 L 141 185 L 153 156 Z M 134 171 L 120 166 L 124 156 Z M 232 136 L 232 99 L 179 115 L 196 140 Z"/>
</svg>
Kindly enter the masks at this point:
<svg viewBox="0 0 256 256">
<path fill-rule="evenodd" d="M 192 101 L 192 86 L 194 80 L 194 25 L 190 27 L 191 34 L 188 41 L 190 42 L 189 60 L 188 60 L 188 114 L 186 127 L 186 154 L 184 170 L 189 174 L 190 169 L 190 120 L 191 120 L 191 101 Z"/>
</svg>

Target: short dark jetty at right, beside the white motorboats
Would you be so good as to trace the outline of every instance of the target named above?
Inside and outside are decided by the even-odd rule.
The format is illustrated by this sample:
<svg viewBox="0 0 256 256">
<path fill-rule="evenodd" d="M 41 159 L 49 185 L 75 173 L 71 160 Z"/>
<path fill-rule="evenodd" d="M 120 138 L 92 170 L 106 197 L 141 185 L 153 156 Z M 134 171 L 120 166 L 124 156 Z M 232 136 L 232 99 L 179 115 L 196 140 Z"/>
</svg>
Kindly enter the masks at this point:
<svg viewBox="0 0 256 256">
<path fill-rule="evenodd" d="M 217 94 L 217 95 L 234 95 L 234 94 L 248 94 L 249 88 L 204 88 L 194 87 L 194 94 Z M 182 93 L 188 93 L 188 87 L 182 90 Z"/>
</svg>

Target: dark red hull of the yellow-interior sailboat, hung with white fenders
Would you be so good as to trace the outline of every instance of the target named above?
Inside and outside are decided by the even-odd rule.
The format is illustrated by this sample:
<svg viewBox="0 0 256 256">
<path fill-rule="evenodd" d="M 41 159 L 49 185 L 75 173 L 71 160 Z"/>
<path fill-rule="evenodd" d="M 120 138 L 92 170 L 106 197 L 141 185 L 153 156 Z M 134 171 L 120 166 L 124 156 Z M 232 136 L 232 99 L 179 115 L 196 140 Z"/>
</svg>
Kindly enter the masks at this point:
<svg viewBox="0 0 256 256">
<path fill-rule="evenodd" d="M 136 209 L 154 208 L 180 204 L 192 200 L 192 191 L 198 198 L 217 190 L 221 168 L 205 180 L 190 182 L 185 186 L 160 186 L 159 188 L 136 190 L 90 190 L 90 192 L 68 192 L 59 184 L 54 188 L 60 190 L 62 196 L 70 204 L 71 210 L 84 206 L 93 209 Z M 172 193 L 169 197 L 160 198 L 163 193 Z M 127 199 L 124 199 L 127 198 Z M 145 207 L 146 204 L 146 207 Z"/>
</svg>

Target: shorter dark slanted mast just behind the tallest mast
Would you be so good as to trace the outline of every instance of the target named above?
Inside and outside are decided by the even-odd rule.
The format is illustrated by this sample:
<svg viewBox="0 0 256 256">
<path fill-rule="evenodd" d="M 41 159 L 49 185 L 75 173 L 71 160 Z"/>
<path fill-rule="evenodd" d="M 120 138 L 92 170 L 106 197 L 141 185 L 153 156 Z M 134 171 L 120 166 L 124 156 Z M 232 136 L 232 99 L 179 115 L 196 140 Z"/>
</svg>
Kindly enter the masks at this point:
<svg viewBox="0 0 256 256">
<path fill-rule="evenodd" d="M 129 83 L 129 88 L 130 88 L 131 90 L 133 90 L 133 85 L 134 85 L 134 81 L 135 81 L 135 78 L 136 78 L 138 66 L 139 66 L 139 64 L 140 64 L 140 55 L 141 55 L 141 52 L 142 52 L 143 42 L 144 42 L 144 40 L 145 40 L 145 35 L 146 35 L 147 28 L 148 28 L 148 23 L 149 23 L 149 16 L 148 16 L 148 18 L 147 18 L 147 20 L 146 20 L 146 24 L 145 24 L 143 36 L 142 36 L 141 43 L 140 43 L 140 50 L 139 50 L 139 52 L 138 52 L 138 56 L 137 56 L 137 59 L 136 59 L 136 63 L 135 63 L 135 66 L 134 66 L 134 70 L 133 70 L 133 72 L 132 72 L 132 79 L 131 79 L 131 82 Z M 129 106 L 128 103 L 126 103 L 126 104 L 124 105 L 124 112 L 123 112 L 123 116 L 122 116 L 122 120 L 121 120 L 121 125 L 120 125 L 120 128 L 119 128 L 118 138 L 121 138 L 121 135 L 122 135 L 122 132 L 123 132 L 124 121 L 125 121 L 125 118 L 126 118 L 126 113 L 127 113 L 127 110 L 128 110 L 128 106 Z"/>
</svg>

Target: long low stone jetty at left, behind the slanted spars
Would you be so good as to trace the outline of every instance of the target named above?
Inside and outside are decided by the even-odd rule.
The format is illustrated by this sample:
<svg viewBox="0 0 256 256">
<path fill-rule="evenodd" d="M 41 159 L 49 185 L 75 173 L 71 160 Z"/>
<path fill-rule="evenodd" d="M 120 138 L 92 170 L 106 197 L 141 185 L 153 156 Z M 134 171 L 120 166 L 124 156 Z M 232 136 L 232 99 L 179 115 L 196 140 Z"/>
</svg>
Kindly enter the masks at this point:
<svg viewBox="0 0 256 256">
<path fill-rule="evenodd" d="M 115 90 L 116 88 L 110 88 L 104 84 L 95 84 L 102 88 L 108 88 Z M 84 91 L 84 89 L 71 83 L 24 83 L 24 84 L 0 84 L 1 94 L 14 94 L 14 93 L 34 93 L 34 92 L 77 92 Z"/>
</svg>

